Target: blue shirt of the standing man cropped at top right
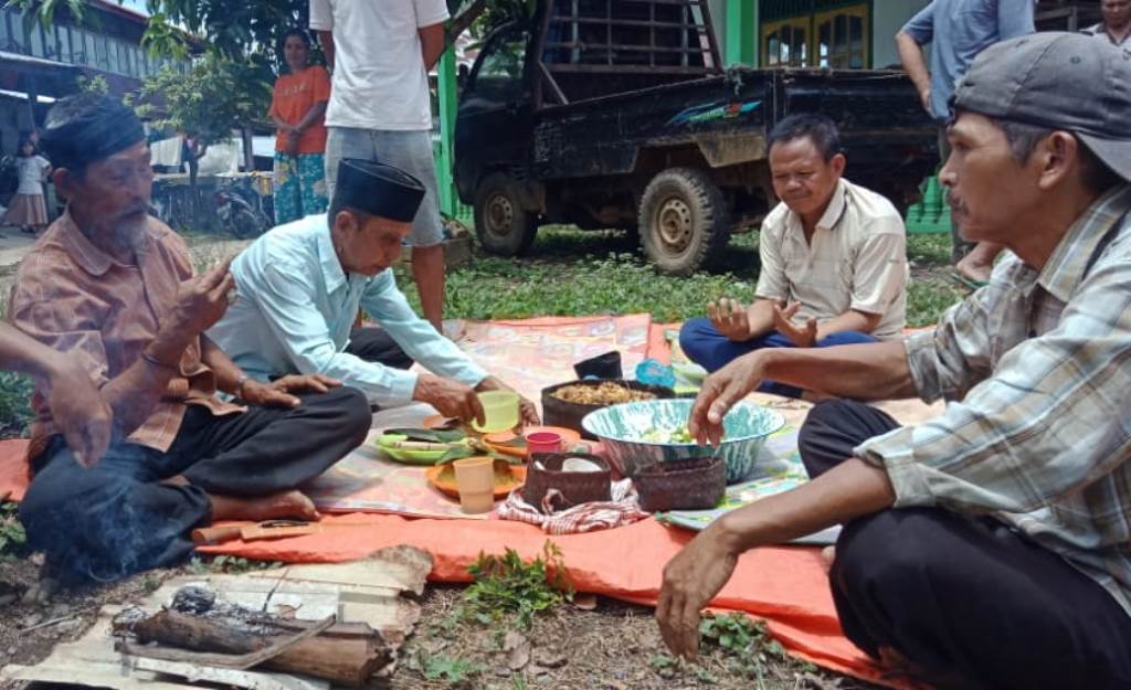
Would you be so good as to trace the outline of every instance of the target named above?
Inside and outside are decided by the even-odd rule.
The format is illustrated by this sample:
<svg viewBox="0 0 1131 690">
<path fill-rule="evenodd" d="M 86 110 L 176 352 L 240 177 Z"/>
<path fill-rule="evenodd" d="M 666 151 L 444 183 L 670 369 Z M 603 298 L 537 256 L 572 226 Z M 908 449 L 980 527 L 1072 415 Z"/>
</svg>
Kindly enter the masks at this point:
<svg viewBox="0 0 1131 690">
<path fill-rule="evenodd" d="M 1034 0 L 934 0 L 904 25 L 920 45 L 931 44 L 931 114 L 950 118 L 950 96 L 983 50 L 1031 34 Z"/>
</svg>

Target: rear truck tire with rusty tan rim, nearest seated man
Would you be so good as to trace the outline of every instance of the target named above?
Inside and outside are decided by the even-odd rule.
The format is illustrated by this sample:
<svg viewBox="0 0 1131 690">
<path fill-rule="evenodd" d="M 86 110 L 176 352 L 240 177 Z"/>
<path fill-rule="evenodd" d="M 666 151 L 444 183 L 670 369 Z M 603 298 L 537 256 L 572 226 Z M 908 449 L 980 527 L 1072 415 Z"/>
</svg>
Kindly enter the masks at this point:
<svg viewBox="0 0 1131 690">
<path fill-rule="evenodd" d="M 731 239 L 723 192 L 693 167 L 671 167 L 653 178 L 639 217 L 645 253 L 672 276 L 690 276 L 710 264 Z"/>
</svg>

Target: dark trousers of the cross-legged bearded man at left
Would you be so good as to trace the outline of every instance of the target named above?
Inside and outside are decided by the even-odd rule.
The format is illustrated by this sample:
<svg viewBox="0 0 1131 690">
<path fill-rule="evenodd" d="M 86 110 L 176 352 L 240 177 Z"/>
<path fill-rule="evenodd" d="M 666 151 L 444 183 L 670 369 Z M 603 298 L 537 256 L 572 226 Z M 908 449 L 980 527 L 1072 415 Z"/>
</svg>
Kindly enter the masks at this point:
<svg viewBox="0 0 1131 690">
<path fill-rule="evenodd" d="M 365 440 L 372 417 L 361 391 L 300 397 L 293 409 L 225 416 L 189 406 L 167 452 L 115 442 L 90 468 L 55 437 L 36 458 L 19 507 L 29 544 L 71 585 L 188 558 L 189 532 L 211 519 L 209 493 L 250 498 L 294 489 Z M 178 475 L 189 483 L 162 483 Z"/>
</svg>

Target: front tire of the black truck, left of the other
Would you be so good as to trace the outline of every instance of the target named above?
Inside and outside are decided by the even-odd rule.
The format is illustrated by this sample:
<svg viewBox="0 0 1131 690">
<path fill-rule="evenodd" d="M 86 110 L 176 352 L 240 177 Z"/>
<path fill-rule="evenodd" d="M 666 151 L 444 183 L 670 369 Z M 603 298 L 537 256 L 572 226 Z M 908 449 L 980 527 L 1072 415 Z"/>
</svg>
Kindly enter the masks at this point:
<svg viewBox="0 0 1131 690">
<path fill-rule="evenodd" d="M 523 208 L 509 175 L 492 173 L 483 179 L 475 192 L 475 234 L 483 249 L 502 257 L 523 255 L 537 231 L 537 216 Z"/>
</svg>

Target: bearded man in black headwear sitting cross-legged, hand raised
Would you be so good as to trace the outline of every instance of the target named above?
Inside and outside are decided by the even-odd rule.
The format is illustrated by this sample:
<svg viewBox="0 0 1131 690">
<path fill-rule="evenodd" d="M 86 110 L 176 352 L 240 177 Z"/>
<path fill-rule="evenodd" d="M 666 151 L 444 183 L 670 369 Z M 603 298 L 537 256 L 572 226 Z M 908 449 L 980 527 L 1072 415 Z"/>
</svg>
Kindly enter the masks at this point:
<svg viewBox="0 0 1131 690">
<path fill-rule="evenodd" d="M 115 433 L 84 467 L 36 390 L 20 519 L 49 575 L 109 580 L 174 563 L 210 520 L 317 518 L 294 489 L 364 440 L 364 396 L 323 377 L 247 380 L 201 335 L 233 278 L 226 264 L 193 275 L 184 242 L 147 214 L 149 149 L 133 111 L 66 98 L 42 140 L 69 204 L 25 257 L 8 313 L 98 383 Z"/>
</svg>

